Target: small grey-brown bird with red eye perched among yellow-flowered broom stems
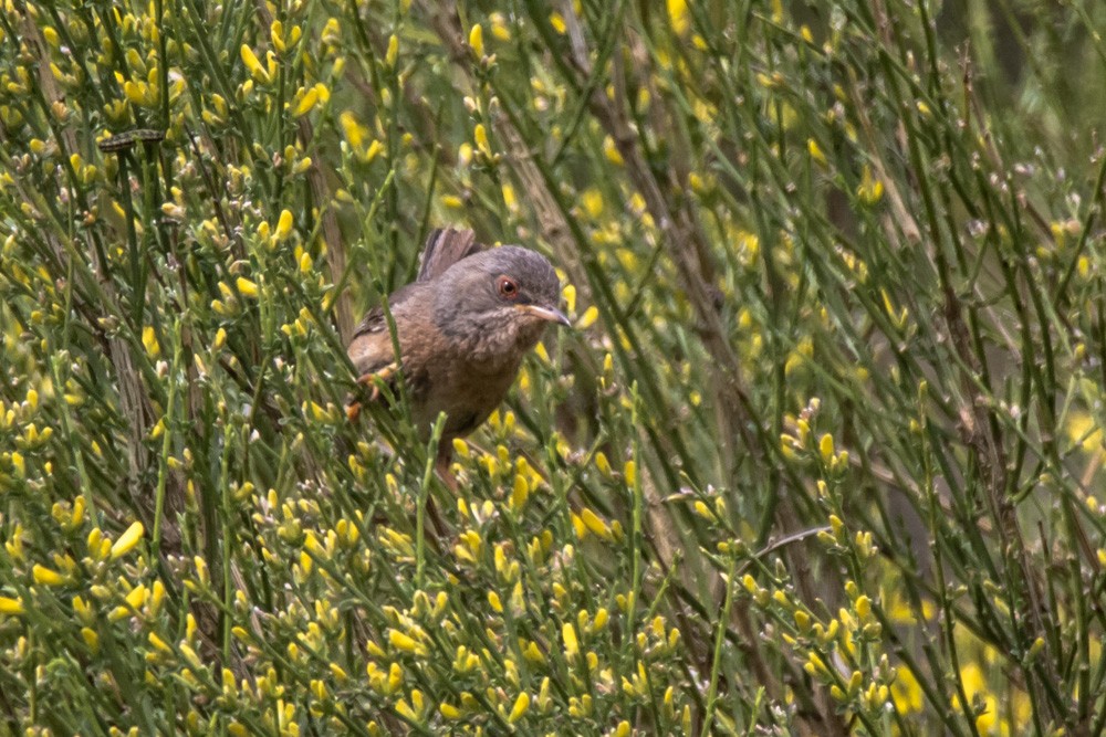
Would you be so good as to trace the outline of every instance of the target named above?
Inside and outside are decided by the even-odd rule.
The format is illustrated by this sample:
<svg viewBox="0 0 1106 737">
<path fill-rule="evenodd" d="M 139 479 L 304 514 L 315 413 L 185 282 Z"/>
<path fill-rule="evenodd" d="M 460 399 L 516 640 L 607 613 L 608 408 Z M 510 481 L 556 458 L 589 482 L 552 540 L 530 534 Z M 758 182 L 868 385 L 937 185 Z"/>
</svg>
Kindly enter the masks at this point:
<svg viewBox="0 0 1106 737">
<path fill-rule="evenodd" d="M 374 400 L 377 380 L 403 376 L 420 436 L 446 413 L 437 460 L 445 472 L 453 439 L 499 407 L 545 326 L 570 325 L 560 298 L 545 256 L 518 245 L 486 250 L 472 231 L 439 229 L 427 239 L 416 281 L 388 297 L 398 360 L 380 307 L 357 326 L 347 352 Z M 358 411 L 356 402 L 346 408 L 351 419 Z"/>
</svg>

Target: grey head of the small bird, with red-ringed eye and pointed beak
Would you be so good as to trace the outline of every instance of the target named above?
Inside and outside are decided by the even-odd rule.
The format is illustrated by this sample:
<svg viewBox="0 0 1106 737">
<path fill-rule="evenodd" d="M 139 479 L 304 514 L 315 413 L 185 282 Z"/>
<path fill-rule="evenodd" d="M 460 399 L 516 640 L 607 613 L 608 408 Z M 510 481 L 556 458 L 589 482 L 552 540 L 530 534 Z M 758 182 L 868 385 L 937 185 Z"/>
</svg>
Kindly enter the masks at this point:
<svg viewBox="0 0 1106 737">
<path fill-rule="evenodd" d="M 549 260 L 518 245 L 461 259 L 436 280 L 435 322 L 448 338 L 488 357 L 529 350 L 559 309 L 561 282 Z"/>
</svg>

